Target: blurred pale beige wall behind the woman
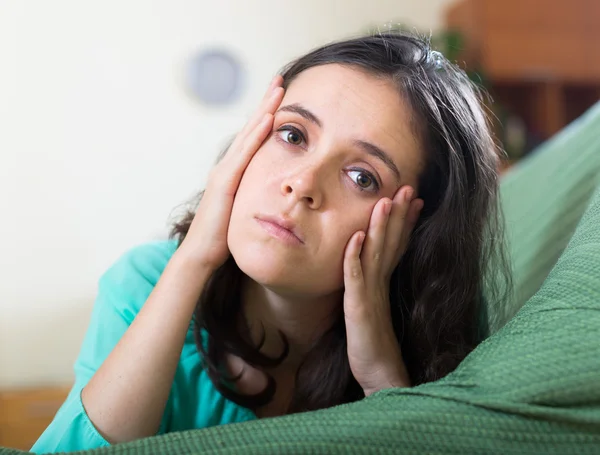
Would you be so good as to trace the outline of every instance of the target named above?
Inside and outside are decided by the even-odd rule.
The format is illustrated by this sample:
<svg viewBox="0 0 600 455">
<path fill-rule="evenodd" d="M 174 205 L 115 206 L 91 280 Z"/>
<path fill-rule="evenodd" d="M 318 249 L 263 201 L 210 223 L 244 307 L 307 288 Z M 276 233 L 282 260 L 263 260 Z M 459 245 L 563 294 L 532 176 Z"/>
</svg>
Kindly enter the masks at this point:
<svg viewBox="0 0 600 455">
<path fill-rule="evenodd" d="M 164 235 L 280 66 L 444 0 L 0 0 L 0 386 L 65 383 L 99 275 Z M 207 6 L 209 5 L 209 6 Z M 186 96 L 186 59 L 235 51 L 235 106 Z"/>
</svg>

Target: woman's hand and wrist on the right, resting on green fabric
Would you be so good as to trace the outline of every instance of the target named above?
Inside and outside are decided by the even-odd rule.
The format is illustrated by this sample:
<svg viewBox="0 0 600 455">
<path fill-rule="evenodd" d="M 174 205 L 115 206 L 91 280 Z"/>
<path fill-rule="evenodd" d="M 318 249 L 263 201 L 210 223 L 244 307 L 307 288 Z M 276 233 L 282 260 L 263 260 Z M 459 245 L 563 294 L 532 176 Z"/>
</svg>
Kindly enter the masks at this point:
<svg viewBox="0 0 600 455">
<path fill-rule="evenodd" d="M 410 379 L 390 314 L 390 278 L 406 251 L 423 208 L 410 186 L 380 199 L 367 233 L 350 238 L 344 254 L 344 316 L 348 359 L 365 395 L 390 387 L 409 387 Z"/>
</svg>

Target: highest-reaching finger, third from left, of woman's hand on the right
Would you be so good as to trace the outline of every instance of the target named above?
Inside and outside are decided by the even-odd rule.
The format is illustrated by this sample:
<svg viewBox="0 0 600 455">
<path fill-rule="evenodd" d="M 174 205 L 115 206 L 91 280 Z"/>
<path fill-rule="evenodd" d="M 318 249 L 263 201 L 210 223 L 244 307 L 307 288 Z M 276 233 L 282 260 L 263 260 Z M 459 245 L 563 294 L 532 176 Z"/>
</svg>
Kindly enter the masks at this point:
<svg viewBox="0 0 600 455">
<path fill-rule="evenodd" d="M 413 188 L 406 185 L 400 188 L 394 195 L 386 232 L 388 242 L 385 249 L 386 256 L 384 262 L 387 269 L 391 270 L 396 267 L 400 256 L 406 249 L 406 242 L 408 237 L 410 237 L 410 226 L 408 226 L 407 218 L 414 194 Z M 408 235 L 406 235 L 407 231 Z"/>
</svg>

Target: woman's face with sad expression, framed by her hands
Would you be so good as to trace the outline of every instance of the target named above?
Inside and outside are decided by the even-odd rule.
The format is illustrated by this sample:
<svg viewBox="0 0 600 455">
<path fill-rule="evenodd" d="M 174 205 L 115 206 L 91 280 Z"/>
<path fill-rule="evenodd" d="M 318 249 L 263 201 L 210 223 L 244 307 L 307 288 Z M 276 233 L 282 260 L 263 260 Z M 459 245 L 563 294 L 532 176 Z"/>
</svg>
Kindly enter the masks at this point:
<svg viewBox="0 0 600 455">
<path fill-rule="evenodd" d="M 391 82 L 335 64 L 302 72 L 240 182 L 228 231 L 236 263 L 282 294 L 340 290 L 348 240 L 379 199 L 417 189 L 423 162 Z M 286 221 L 299 240 L 277 227 Z"/>
</svg>

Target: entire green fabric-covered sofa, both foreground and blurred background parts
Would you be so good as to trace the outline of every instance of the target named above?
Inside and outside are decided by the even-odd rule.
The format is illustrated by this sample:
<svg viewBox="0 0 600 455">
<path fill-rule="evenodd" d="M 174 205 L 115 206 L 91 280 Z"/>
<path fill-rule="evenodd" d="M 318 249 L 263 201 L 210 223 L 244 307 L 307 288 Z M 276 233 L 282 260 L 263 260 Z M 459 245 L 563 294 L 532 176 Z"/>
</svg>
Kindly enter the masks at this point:
<svg viewBox="0 0 600 455">
<path fill-rule="evenodd" d="M 521 298 L 535 293 L 587 205 L 598 131 L 600 106 L 503 183 Z M 600 189 L 541 289 L 503 325 L 517 306 L 490 308 L 495 333 L 440 381 L 81 453 L 600 453 Z"/>
</svg>

